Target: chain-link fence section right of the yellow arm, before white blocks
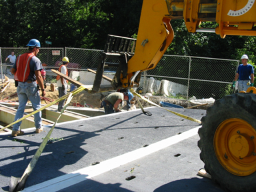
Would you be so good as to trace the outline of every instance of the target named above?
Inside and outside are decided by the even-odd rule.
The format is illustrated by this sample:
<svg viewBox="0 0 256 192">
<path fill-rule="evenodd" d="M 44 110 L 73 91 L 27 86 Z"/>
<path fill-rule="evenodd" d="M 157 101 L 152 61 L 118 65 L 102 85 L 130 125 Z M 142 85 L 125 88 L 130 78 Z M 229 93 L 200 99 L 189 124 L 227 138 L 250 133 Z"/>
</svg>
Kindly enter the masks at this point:
<svg viewBox="0 0 256 192">
<path fill-rule="evenodd" d="M 238 65 L 239 60 L 163 55 L 155 69 L 143 74 L 147 79 L 143 80 L 143 93 L 221 99 L 233 93 L 231 83 Z"/>
</svg>

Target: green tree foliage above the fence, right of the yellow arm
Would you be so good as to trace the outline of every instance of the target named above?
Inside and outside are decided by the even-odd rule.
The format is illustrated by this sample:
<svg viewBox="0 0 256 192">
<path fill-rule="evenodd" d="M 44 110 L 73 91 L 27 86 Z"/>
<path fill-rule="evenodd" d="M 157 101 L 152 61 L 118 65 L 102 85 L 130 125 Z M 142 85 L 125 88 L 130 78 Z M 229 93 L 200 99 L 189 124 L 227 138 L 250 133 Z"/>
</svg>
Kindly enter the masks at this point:
<svg viewBox="0 0 256 192">
<path fill-rule="evenodd" d="M 251 36 L 226 36 L 221 39 L 215 33 L 188 33 L 183 20 L 171 21 L 175 38 L 167 50 L 171 55 L 190 55 L 221 59 L 240 59 L 243 54 L 255 63 L 255 41 Z M 217 23 L 202 23 L 202 28 L 215 29 Z"/>
</svg>

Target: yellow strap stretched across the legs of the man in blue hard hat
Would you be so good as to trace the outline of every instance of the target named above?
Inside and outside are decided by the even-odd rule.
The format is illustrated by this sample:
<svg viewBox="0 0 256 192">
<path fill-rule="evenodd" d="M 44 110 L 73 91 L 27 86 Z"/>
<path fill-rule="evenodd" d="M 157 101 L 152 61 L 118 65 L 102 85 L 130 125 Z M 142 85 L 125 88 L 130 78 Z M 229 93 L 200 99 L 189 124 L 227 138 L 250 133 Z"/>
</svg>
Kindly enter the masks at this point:
<svg viewBox="0 0 256 192">
<path fill-rule="evenodd" d="M 92 88 L 91 85 L 81 85 L 79 88 L 75 89 L 74 91 L 72 91 L 72 96 L 83 91 L 84 89 L 87 89 L 87 91 L 90 91 Z M 70 94 L 70 93 L 69 93 Z M 29 115 L 26 115 L 25 117 L 22 117 L 21 119 L 18 119 L 17 121 L 14 121 L 13 123 L 10 123 L 9 125 L 3 127 L 2 129 L 0 129 L 0 131 L 3 131 L 3 129 L 7 128 L 7 127 L 11 127 L 11 125 L 14 125 L 15 123 L 18 123 L 19 121 L 22 121 L 23 119 L 27 119 L 27 117 L 30 117 L 31 115 L 34 115 L 35 113 L 38 113 L 39 111 L 43 111 L 43 109 L 46 109 L 47 107 L 50 107 L 51 105 L 54 105 L 56 103 L 58 103 L 59 101 L 62 101 L 63 99 L 67 99 L 67 97 L 69 97 L 69 94 L 67 95 L 63 95 L 61 98 L 53 101 L 52 103 L 49 103 L 43 107 L 41 107 L 40 109 L 38 109 L 37 111 L 33 111 L 32 113 L 30 113 Z"/>
</svg>

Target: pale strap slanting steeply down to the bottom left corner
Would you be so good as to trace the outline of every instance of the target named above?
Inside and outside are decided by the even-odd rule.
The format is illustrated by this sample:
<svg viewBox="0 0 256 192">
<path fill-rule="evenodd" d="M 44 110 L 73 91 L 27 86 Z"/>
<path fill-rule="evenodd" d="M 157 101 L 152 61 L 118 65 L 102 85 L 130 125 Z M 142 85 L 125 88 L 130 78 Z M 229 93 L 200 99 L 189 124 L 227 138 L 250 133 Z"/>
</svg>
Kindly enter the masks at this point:
<svg viewBox="0 0 256 192">
<path fill-rule="evenodd" d="M 25 172 L 23 173 L 22 177 L 19 178 L 19 177 L 11 176 L 11 181 L 10 181 L 10 185 L 9 185 L 9 192 L 16 192 L 16 191 L 21 191 L 21 190 L 24 189 L 27 178 L 29 177 L 29 175 L 33 171 L 33 168 L 35 167 L 35 164 L 37 163 L 37 160 L 39 159 L 41 153 L 43 152 L 43 149 L 45 149 L 45 145 L 47 144 L 47 141 L 49 140 L 49 138 L 51 136 L 51 133 L 53 132 L 53 129 L 55 128 L 56 123 L 59 121 L 59 118 L 61 117 L 62 113 L 67 108 L 67 105 L 69 105 L 71 99 L 73 98 L 72 95 L 73 95 L 72 93 L 69 93 L 67 95 L 67 97 L 68 97 L 67 102 L 66 102 L 65 106 L 63 107 L 63 109 L 61 110 L 61 113 L 59 114 L 59 117 L 57 118 L 57 121 L 55 121 L 55 123 L 53 124 L 53 127 L 51 127 L 51 130 L 49 131 L 49 133 L 47 133 L 45 139 L 43 139 L 43 142 L 41 143 L 41 145 L 37 149 L 37 152 L 35 152 L 35 155 L 31 159 L 29 165 L 27 165 L 27 169 L 25 169 Z"/>
</svg>

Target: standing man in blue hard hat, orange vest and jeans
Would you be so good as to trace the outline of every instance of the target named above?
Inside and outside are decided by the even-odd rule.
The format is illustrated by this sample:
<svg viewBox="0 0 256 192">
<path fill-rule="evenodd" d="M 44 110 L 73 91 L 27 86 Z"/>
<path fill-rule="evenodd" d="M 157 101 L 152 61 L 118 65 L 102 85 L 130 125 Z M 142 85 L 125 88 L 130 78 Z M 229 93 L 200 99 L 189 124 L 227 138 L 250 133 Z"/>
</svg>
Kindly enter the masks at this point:
<svg viewBox="0 0 256 192">
<path fill-rule="evenodd" d="M 40 42 L 37 39 L 31 39 L 27 46 L 29 47 L 28 52 L 19 55 L 11 69 L 11 73 L 14 75 L 15 79 L 19 81 L 17 86 L 19 107 L 14 121 L 23 117 L 28 99 L 31 101 L 34 111 L 40 109 L 41 99 L 37 83 L 41 88 L 42 96 L 45 97 L 46 94 L 43 87 L 43 77 L 41 76 L 43 67 L 41 61 L 36 57 L 41 47 Z M 41 131 L 43 131 L 41 111 L 35 113 L 34 121 L 36 128 L 35 133 L 41 133 Z M 11 133 L 13 137 L 24 134 L 24 132 L 20 130 L 20 125 L 21 121 L 13 125 L 13 131 Z"/>
</svg>

